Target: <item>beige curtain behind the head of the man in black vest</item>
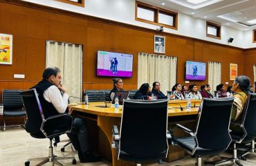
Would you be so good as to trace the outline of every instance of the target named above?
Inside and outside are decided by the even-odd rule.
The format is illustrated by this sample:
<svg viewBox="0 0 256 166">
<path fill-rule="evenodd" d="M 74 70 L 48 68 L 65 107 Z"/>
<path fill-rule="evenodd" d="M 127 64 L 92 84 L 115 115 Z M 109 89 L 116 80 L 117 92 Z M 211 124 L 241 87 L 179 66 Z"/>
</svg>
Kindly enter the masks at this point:
<svg viewBox="0 0 256 166">
<path fill-rule="evenodd" d="M 68 95 L 82 98 L 82 45 L 46 42 L 46 68 L 57 66 L 62 71 L 62 84 Z M 80 99 L 70 98 L 71 102 Z"/>
</svg>

